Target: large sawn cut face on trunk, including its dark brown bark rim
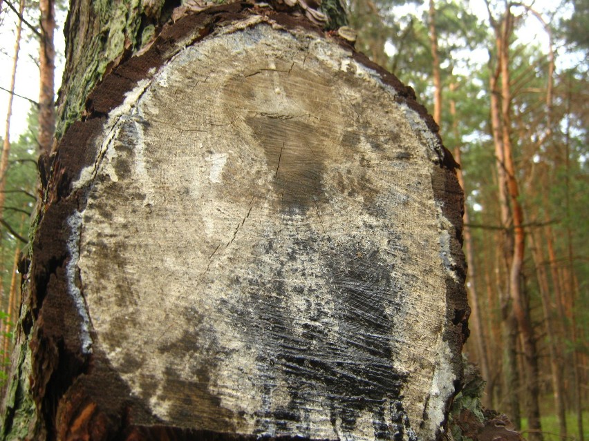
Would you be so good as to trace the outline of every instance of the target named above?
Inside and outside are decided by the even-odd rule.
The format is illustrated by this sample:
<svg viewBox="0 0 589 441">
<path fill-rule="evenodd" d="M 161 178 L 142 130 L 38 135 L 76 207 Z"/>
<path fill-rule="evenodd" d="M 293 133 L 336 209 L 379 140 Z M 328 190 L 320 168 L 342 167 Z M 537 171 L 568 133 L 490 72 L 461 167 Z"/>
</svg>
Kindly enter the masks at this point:
<svg viewBox="0 0 589 441">
<path fill-rule="evenodd" d="M 39 208 L 4 435 L 442 437 L 462 191 L 410 88 L 234 3 L 121 59 L 85 115 Z"/>
</svg>

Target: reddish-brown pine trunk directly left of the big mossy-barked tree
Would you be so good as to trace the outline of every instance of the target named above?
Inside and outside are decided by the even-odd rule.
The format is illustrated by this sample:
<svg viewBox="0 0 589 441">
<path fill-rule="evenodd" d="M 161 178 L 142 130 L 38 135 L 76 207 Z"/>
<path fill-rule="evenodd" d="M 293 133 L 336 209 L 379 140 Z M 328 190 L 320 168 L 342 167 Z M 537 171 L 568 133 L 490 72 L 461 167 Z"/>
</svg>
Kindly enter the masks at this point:
<svg viewBox="0 0 589 441">
<path fill-rule="evenodd" d="M 39 42 L 39 148 L 49 153 L 55 134 L 55 0 L 39 0 L 41 41 Z"/>
</svg>

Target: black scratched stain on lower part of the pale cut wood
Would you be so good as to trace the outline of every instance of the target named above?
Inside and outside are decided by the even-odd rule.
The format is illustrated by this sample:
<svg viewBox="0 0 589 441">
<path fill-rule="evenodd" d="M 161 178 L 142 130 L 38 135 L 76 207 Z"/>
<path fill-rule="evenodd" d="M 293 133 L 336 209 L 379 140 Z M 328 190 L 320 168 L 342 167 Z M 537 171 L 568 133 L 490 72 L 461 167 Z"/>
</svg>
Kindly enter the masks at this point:
<svg viewBox="0 0 589 441">
<path fill-rule="evenodd" d="M 308 405 L 318 401 L 326 403 L 334 430 L 344 436 L 368 411 L 375 439 L 416 440 L 401 401 L 406 376 L 393 365 L 395 320 L 402 320 L 395 294 L 401 297 L 402 288 L 390 262 L 353 238 L 347 244 L 294 238 L 292 244 L 290 255 L 281 255 L 268 241 L 266 254 L 274 264 L 263 276 L 240 280 L 248 286 L 246 303 L 241 311 L 230 311 L 250 330 L 248 342 L 257 348 L 264 379 L 256 433 L 281 435 L 293 425 L 305 433 Z M 288 262 L 303 256 L 315 262 L 311 267 L 324 268 L 303 275 L 318 280 L 320 291 L 308 282 L 294 287 L 283 282 Z M 307 300 L 296 313 L 288 306 L 292 297 Z M 287 404 L 273 399 L 278 383 L 288 384 Z"/>
</svg>

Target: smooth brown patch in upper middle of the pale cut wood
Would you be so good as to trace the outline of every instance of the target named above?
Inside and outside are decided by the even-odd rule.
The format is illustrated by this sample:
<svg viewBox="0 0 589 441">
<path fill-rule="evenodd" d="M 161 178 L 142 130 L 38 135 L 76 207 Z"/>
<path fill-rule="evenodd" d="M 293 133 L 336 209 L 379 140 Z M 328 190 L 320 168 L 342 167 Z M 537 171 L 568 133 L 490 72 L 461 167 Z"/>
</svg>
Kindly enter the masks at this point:
<svg viewBox="0 0 589 441">
<path fill-rule="evenodd" d="M 276 105 L 269 109 L 272 99 Z M 277 57 L 227 81 L 221 100 L 227 117 L 240 115 L 259 144 L 276 210 L 286 215 L 319 210 L 326 199 L 326 164 L 342 137 L 334 130 L 344 126 L 330 78 Z"/>
</svg>

